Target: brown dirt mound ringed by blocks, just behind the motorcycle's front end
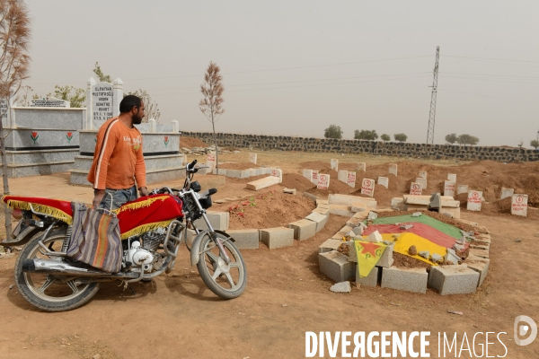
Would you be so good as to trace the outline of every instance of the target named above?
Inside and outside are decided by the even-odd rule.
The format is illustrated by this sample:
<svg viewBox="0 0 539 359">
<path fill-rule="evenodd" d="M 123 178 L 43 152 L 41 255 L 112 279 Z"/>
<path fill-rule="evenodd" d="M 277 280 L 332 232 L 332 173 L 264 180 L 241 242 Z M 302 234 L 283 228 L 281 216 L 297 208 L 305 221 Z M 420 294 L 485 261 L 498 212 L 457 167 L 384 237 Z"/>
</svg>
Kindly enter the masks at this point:
<svg viewBox="0 0 539 359">
<path fill-rule="evenodd" d="M 313 209 L 313 201 L 277 189 L 212 207 L 212 210 L 230 213 L 231 230 L 286 226 L 305 218 Z"/>
</svg>

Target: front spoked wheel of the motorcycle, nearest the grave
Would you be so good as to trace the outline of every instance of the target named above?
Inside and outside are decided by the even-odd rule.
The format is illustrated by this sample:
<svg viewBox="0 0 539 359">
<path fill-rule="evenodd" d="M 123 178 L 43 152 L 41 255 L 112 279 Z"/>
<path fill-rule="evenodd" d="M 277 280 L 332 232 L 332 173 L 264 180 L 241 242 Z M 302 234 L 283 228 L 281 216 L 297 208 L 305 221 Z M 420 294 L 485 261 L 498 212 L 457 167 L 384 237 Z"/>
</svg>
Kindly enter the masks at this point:
<svg viewBox="0 0 539 359">
<path fill-rule="evenodd" d="M 197 268 L 200 276 L 208 288 L 221 298 L 233 299 L 240 296 L 247 285 L 247 271 L 240 251 L 233 241 L 226 241 L 223 234 L 216 233 L 216 236 L 223 241 L 226 254 L 231 259 L 226 264 L 221 258 L 219 249 L 209 234 L 206 234 L 200 242 L 200 258 Z"/>
</svg>

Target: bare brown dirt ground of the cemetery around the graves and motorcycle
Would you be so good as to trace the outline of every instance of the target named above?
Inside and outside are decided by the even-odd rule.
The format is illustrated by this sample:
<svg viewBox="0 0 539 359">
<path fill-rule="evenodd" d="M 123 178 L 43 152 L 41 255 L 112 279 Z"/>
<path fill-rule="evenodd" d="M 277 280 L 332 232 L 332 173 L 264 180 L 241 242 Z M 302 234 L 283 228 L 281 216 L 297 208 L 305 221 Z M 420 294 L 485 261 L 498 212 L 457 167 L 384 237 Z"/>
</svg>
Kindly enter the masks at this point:
<svg viewBox="0 0 539 359">
<path fill-rule="evenodd" d="M 236 162 L 230 166 L 241 167 L 249 161 L 248 152 L 220 154 L 219 161 Z M 193 158 L 196 157 L 189 156 L 188 160 Z M 254 195 L 244 188 L 252 178 L 224 181 L 222 176 L 199 175 L 196 179 L 203 188 L 218 188 L 214 201 L 238 198 L 237 202 L 212 207 L 216 210 L 226 210 L 231 204 L 241 206 L 253 196 L 266 194 L 261 196 L 266 198 L 257 199 L 257 206 L 249 206 L 243 218 L 231 216 L 231 229 L 263 226 L 268 221 L 272 223 L 268 226 L 275 226 L 274 221 L 279 220 L 280 225 L 286 225 L 314 208 L 301 192 L 327 197 L 330 193 L 358 190 L 358 186 L 346 188 L 348 185 L 339 183 L 336 172 L 330 170 L 331 158 L 340 161 L 340 169 L 349 171 L 356 162 L 366 162 L 367 172 L 357 172 L 358 182 L 363 177 L 389 177 L 389 188 L 376 185 L 378 206 L 389 206 L 392 197 L 408 193 L 418 171 L 429 173 L 429 187 L 423 194 L 443 189 L 440 186 L 447 173 L 455 173 L 459 184 L 482 190 L 486 200 L 482 212 L 461 210 L 461 218 L 480 223 L 490 231 L 490 270 L 478 291 L 442 296 L 433 290 L 420 294 L 378 286 L 331 293 L 333 282 L 318 270 L 318 246 L 349 220 L 339 215 L 331 215 L 323 230 L 308 241 L 295 241 L 293 246 L 278 250 L 269 250 L 262 243 L 259 250 L 242 250 L 248 285 L 243 295 L 232 301 L 223 301 L 208 290 L 196 267 L 190 267 L 188 251 L 182 248 L 170 275 L 131 285 L 135 293 L 118 286 L 119 282 L 102 284 L 93 301 L 84 307 L 46 313 L 25 302 L 12 286 L 15 258 L 0 257 L 0 357 L 91 358 L 100 354 L 102 358 L 298 358 L 305 357 L 305 331 L 345 330 L 430 331 L 431 357 L 437 357 L 438 332 L 451 338 L 456 332 L 458 348 L 464 332 L 470 343 L 476 332 L 482 332 L 478 337 L 483 345 L 485 332 L 506 332 L 500 335 L 508 346 L 506 357 L 539 356 L 537 339 L 529 346 L 517 346 L 513 341 L 513 322 L 518 315 L 539 320 L 539 210 L 535 209 L 539 206 L 539 163 L 455 163 L 338 153 L 259 152 L 259 164 L 283 170 L 282 184 Z M 202 157 L 199 159 L 204 162 Z M 398 164 L 397 178 L 388 175 L 388 163 Z M 329 190 L 323 192 L 305 182 L 302 169 L 330 173 Z M 166 184 L 178 187 L 181 183 L 176 180 Z M 90 188 L 69 185 L 67 173 L 13 179 L 10 186 L 13 194 L 24 196 L 86 203 L 92 199 Z M 285 187 L 296 188 L 298 193 L 283 195 Z M 515 188 L 515 193 L 529 196 L 527 217 L 508 213 L 505 202 L 497 199 L 501 187 Z M 283 208 L 287 196 L 294 197 L 295 206 Z M 0 223 L 4 223 L 3 217 Z M 0 237 L 4 238 L 4 233 Z M 464 315 L 447 311 L 462 311 Z M 505 354 L 496 337 L 490 335 L 489 342 L 494 342 L 489 346 L 489 355 Z M 480 355 L 481 347 L 476 344 L 475 348 Z M 328 355 L 327 348 L 325 354 Z M 469 357 L 468 352 L 461 357 Z"/>
</svg>

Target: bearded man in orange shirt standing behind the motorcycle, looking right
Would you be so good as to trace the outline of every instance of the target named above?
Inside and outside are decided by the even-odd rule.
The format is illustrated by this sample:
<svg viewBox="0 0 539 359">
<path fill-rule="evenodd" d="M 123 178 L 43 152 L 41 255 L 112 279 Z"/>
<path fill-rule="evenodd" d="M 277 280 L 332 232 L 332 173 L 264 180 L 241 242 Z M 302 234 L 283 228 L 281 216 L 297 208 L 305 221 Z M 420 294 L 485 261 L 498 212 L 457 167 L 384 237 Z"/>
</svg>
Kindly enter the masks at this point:
<svg viewBox="0 0 539 359">
<path fill-rule="evenodd" d="M 94 208 L 119 208 L 137 199 L 137 188 L 141 196 L 148 195 L 142 135 L 133 126 L 142 118 L 144 103 L 128 95 L 119 103 L 119 116 L 110 118 L 99 129 L 87 178 L 93 183 Z"/>
</svg>

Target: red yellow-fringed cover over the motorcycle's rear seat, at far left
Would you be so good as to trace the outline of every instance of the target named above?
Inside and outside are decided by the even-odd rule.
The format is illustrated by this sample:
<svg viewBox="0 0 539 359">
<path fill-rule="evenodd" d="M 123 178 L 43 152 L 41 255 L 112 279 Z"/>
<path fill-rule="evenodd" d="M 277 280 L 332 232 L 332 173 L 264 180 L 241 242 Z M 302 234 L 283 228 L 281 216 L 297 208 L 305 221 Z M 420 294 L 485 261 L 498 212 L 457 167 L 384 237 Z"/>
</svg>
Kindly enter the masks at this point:
<svg viewBox="0 0 539 359">
<path fill-rule="evenodd" d="M 13 209 L 23 209 L 40 212 L 50 215 L 67 224 L 73 223 L 73 209 L 71 202 L 60 199 L 41 198 L 41 197 L 22 197 L 22 196 L 4 196 L 4 203 Z"/>
</svg>

